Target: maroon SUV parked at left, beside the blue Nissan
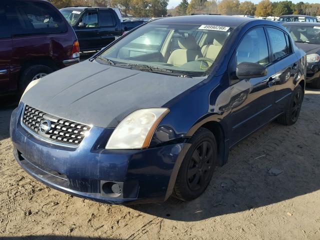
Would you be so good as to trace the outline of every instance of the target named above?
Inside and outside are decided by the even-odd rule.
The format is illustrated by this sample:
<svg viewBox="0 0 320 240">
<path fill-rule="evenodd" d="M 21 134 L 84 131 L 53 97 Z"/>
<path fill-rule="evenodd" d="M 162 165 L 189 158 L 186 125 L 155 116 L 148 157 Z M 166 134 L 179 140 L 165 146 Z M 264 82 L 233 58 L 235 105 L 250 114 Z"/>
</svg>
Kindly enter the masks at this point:
<svg viewBox="0 0 320 240">
<path fill-rule="evenodd" d="M 79 61 L 73 29 L 45 0 L 2 0 L 0 22 L 0 94 Z"/>
</svg>

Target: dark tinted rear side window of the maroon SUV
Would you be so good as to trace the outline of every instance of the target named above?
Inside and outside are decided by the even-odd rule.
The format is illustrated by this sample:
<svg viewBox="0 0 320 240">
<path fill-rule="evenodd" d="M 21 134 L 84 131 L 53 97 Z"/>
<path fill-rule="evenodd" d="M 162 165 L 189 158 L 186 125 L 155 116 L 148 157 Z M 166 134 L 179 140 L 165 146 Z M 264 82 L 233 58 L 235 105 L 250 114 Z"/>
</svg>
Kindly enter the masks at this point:
<svg viewBox="0 0 320 240">
<path fill-rule="evenodd" d="M 62 17 L 44 2 L 12 1 L 6 12 L 13 35 L 66 32 Z"/>
</svg>

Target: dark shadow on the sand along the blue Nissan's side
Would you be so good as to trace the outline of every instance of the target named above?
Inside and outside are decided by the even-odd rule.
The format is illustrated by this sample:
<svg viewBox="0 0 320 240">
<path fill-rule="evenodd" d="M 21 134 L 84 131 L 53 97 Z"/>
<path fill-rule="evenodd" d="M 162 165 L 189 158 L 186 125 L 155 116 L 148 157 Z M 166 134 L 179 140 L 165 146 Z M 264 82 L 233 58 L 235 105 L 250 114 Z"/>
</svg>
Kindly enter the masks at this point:
<svg viewBox="0 0 320 240">
<path fill-rule="evenodd" d="M 314 93 L 305 94 L 294 125 L 271 122 L 231 148 L 228 163 L 215 170 L 197 199 L 182 202 L 170 197 L 161 204 L 130 207 L 172 220 L 197 221 L 240 211 L 251 214 L 253 208 L 319 190 L 320 94 Z"/>
</svg>

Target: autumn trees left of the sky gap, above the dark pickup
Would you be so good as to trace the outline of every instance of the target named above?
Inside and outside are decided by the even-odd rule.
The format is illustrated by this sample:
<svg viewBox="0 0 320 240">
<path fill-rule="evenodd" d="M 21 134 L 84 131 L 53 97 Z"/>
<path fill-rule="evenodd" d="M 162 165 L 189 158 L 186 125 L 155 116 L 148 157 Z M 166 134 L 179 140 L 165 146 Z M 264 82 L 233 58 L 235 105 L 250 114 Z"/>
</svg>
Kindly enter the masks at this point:
<svg viewBox="0 0 320 240">
<path fill-rule="evenodd" d="M 120 8 L 122 14 L 137 17 L 167 15 L 169 0 L 49 0 L 57 8 L 65 6 L 108 6 Z"/>
</svg>

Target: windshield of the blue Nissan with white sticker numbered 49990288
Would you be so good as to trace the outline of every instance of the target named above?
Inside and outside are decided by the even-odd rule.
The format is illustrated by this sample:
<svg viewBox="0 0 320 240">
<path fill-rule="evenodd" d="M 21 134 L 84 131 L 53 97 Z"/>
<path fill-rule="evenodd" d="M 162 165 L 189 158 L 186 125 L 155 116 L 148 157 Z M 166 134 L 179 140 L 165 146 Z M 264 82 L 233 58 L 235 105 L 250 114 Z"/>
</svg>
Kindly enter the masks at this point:
<svg viewBox="0 0 320 240">
<path fill-rule="evenodd" d="M 227 26 L 149 23 L 106 49 L 97 61 L 163 74 L 204 76 L 229 34 Z"/>
</svg>

